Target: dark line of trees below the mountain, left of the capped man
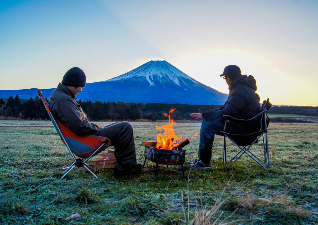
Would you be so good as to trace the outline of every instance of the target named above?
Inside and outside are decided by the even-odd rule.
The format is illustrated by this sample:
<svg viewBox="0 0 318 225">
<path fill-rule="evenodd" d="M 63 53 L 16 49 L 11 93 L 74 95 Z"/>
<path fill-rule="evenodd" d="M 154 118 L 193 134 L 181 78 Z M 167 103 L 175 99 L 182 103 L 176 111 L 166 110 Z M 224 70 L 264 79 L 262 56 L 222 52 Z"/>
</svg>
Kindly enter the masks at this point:
<svg viewBox="0 0 318 225">
<path fill-rule="evenodd" d="M 78 101 L 90 120 L 166 120 L 169 109 L 176 108 L 174 120 L 193 120 L 189 115 L 192 112 L 205 112 L 217 108 L 216 105 L 188 105 L 162 103 L 124 103 L 124 102 L 92 102 Z M 19 117 L 21 119 L 49 119 L 42 100 L 37 96 L 34 99 L 21 100 L 18 95 L 10 96 L 6 101 L 0 99 L 1 117 Z"/>
</svg>

